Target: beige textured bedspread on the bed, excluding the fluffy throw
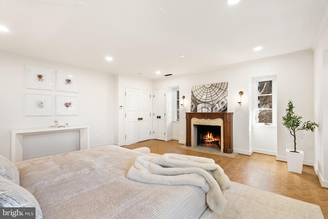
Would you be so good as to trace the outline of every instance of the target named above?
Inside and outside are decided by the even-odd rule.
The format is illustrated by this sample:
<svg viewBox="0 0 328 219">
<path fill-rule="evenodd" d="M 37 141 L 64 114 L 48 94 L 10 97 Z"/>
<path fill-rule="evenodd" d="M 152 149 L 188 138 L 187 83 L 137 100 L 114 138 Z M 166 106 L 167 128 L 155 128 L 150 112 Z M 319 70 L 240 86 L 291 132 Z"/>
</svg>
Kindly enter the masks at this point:
<svg viewBox="0 0 328 219">
<path fill-rule="evenodd" d="M 145 155 L 142 152 L 104 146 L 35 158 L 15 163 L 7 180 L 31 194 L 26 199 L 36 207 L 36 218 L 220 217 L 208 208 L 206 192 L 200 187 L 127 178 L 136 157 Z M 4 181 L 0 180 L 2 188 Z"/>
</svg>

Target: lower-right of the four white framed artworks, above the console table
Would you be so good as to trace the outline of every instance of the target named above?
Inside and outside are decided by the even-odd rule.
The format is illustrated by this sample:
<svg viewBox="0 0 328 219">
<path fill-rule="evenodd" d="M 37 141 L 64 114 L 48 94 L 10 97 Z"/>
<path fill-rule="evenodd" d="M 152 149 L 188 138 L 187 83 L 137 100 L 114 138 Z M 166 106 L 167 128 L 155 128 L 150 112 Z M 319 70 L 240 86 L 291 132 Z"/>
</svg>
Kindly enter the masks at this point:
<svg viewBox="0 0 328 219">
<path fill-rule="evenodd" d="M 57 95 L 57 115 L 77 115 L 78 98 L 77 96 L 60 96 Z"/>
</svg>

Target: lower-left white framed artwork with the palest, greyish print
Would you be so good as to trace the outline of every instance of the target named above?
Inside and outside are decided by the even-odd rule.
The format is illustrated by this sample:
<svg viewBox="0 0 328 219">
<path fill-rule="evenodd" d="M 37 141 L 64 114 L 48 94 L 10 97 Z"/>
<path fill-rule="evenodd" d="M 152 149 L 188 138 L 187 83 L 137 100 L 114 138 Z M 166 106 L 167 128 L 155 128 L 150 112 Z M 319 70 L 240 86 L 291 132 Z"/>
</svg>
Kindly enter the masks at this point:
<svg viewBox="0 0 328 219">
<path fill-rule="evenodd" d="M 53 95 L 25 93 L 25 115 L 52 115 Z"/>
</svg>

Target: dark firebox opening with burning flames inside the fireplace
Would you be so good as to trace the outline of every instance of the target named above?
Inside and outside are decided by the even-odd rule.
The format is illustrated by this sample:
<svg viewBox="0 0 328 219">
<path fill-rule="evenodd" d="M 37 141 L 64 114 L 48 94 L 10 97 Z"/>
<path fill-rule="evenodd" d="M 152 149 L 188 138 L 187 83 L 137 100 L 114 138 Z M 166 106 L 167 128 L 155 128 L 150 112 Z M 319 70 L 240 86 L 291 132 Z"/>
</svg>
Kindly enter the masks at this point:
<svg viewBox="0 0 328 219">
<path fill-rule="evenodd" d="M 221 148 L 221 126 L 197 126 L 197 145 Z"/>
</svg>

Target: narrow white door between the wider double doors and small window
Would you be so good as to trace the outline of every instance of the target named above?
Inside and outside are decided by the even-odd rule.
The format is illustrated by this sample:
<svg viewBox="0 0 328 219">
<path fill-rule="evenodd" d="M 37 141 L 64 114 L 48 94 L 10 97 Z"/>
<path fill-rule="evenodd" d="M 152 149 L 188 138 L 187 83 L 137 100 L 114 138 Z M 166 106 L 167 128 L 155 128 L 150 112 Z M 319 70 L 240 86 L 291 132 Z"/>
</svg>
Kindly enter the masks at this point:
<svg viewBox="0 0 328 219">
<path fill-rule="evenodd" d="M 165 140 L 165 90 L 154 90 L 154 138 Z"/>
</svg>

